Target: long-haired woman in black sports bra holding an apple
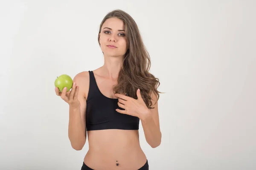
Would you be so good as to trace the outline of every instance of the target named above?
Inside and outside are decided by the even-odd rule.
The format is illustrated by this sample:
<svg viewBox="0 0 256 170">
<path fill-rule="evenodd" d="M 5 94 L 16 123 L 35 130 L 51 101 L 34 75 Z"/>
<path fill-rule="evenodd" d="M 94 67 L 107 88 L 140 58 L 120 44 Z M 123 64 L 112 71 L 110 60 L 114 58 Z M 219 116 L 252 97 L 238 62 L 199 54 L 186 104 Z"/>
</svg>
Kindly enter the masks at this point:
<svg viewBox="0 0 256 170">
<path fill-rule="evenodd" d="M 69 92 L 55 88 L 69 104 L 71 146 L 81 150 L 88 133 L 89 150 L 81 170 L 148 170 L 138 129 L 141 121 L 147 143 L 160 145 L 160 82 L 148 72 L 150 58 L 129 14 L 108 13 L 98 41 L 104 65 L 77 74 Z"/>
</svg>

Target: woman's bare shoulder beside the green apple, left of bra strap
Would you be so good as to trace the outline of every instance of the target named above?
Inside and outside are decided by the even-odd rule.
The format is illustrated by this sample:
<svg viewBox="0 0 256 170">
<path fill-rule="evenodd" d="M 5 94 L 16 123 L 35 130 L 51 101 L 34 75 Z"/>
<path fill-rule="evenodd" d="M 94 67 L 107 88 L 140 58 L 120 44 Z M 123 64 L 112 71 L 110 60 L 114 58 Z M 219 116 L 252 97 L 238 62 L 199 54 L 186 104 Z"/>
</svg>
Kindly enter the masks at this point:
<svg viewBox="0 0 256 170">
<path fill-rule="evenodd" d="M 79 86 L 80 93 L 83 93 L 84 97 L 87 99 L 90 83 L 89 71 L 82 71 L 76 74 L 76 76 L 73 79 L 73 82 L 76 82 L 76 84 Z"/>
</svg>

